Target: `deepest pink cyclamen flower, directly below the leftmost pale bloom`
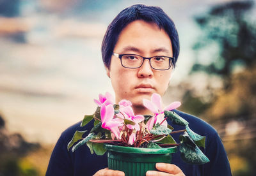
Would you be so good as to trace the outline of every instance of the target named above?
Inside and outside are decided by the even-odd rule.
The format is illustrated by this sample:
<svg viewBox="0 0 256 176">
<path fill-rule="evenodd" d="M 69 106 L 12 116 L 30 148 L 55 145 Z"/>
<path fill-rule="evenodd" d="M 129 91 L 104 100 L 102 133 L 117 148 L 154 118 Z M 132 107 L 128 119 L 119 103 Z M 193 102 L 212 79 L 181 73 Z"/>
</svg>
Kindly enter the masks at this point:
<svg viewBox="0 0 256 176">
<path fill-rule="evenodd" d="M 116 138 L 120 138 L 120 129 L 118 126 L 122 126 L 123 119 L 114 118 L 115 110 L 113 105 L 102 104 L 100 108 L 100 117 L 101 117 L 101 127 L 105 129 L 111 130 L 111 132 L 116 136 Z"/>
</svg>

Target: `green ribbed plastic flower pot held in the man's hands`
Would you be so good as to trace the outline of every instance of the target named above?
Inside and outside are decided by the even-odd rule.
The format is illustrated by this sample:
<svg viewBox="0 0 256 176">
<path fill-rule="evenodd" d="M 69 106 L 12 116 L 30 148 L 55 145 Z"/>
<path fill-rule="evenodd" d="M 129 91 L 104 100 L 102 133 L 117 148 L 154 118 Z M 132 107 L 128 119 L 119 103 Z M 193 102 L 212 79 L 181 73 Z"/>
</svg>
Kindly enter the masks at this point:
<svg viewBox="0 0 256 176">
<path fill-rule="evenodd" d="M 156 163 L 171 163 L 177 147 L 161 149 L 123 147 L 105 144 L 108 152 L 108 168 L 121 170 L 125 176 L 145 175 L 156 170 Z"/>
</svg>

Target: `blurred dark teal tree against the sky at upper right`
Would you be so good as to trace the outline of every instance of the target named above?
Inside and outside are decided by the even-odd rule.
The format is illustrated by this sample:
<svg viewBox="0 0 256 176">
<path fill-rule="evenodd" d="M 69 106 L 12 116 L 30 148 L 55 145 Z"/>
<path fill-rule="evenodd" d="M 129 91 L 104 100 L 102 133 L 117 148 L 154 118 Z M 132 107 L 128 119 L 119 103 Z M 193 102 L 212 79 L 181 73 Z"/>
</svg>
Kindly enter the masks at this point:
<svg viewBox="0 0 256 176">
<path fill-rule="evenodd" d="M 223 77 L 225 88 L 237 67 L 250 68 L 256 57 L 256 25 L 250 21 L 253 1 L 237 1 L 214 6 L 204 16 L 195 17 L 202 36 L 194 45 L 196 52 L 216 48 L 212 55 L 202 55 L 191 72 L 205 71 Z M 198 57 L 198 55 L 197 55 Z M 208 57 L 208 58 L 205 58 Z M 205 64 L 205 60 L 209 63 Z M 206 61 L 207 62 L 207 61 Z"/>
</svg>

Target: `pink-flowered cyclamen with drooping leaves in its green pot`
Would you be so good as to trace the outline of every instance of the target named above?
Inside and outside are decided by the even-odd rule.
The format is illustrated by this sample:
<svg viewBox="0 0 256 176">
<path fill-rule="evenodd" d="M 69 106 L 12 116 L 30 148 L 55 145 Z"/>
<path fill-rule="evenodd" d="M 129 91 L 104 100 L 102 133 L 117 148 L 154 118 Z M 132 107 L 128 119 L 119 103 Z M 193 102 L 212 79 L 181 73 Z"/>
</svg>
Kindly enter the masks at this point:
<svg viewBox="0 0 256 176">
<path fill-rule="evenodd" d="M 86 131 L 76 131 L 68 143 L 68 150 L 73 146 L 74 152 L 86 143 L 92 154 L 103 155 L 107 151 L 109 168 L 121 170 L 125 175 L 145 175 L 147 170 L 156 170 L 156 163 L 171 163 L 177 147 L 186 163 L 209 162 L 198 148 L 205 147 L 205 136 L 193 132 L 188 121 L 173 111 L 180 106 L 179 101 L 162 108 L 159 94 L 152 94 L 150 101 L 143 99 L 143 105 L 154 115 L 134 115 L 130 101 L 123 99 L 115 105 L 108 92 L 94 101 L 97 110 L 93 115 L 84 115 L 81 122 L 81 126 L 85 126 L 94 120 L 93 128 L 85 138 Z M 166 119 L 184 129 L 173 131 Z M 183 133 L 180 143 L 172 138 L 173 133 Z"/>
</svg>

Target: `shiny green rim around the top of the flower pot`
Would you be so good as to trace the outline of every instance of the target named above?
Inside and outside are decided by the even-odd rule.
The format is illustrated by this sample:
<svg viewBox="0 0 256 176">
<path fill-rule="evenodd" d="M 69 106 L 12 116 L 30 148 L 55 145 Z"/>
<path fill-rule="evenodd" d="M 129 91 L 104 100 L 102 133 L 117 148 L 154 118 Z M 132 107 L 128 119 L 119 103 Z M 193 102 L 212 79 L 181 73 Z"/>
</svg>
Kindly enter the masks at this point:
<svg viewBox="0 0 256 176">
<path fill-rule="evenodd" d="M 169 153 L 177 152 L 177 146 L 161 148 L 161 149 L 125 147 L 125 146 L 111 145 L 109 143 L 104 143 L 104 146 L 106 147 L 107 150 L 111 150 L 111 151 L 115 151 L 115 152 L 134 153 L 134 154 L 144 154 L 144 153 L 169 154 Z"/>
</svg>

